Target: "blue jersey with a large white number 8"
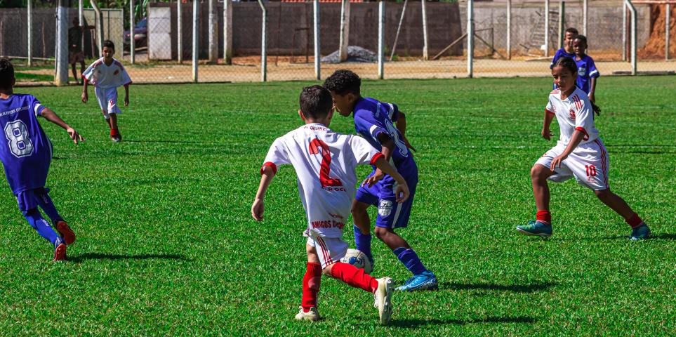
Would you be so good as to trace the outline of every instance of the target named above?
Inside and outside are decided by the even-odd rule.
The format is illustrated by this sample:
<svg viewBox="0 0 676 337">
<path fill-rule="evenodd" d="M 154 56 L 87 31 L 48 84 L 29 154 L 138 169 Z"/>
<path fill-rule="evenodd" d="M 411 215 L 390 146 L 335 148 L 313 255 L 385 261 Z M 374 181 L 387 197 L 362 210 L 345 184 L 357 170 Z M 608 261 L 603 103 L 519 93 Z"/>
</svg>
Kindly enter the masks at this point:
<svg viewBox="0 0 676 337">
<path fill-rule="evenodd" d="M 0 160 L 14 194 L 46 183 L 52 144 L 37 121 L 44 109 L 32 95 L 0 99 Z"/>
</svg>

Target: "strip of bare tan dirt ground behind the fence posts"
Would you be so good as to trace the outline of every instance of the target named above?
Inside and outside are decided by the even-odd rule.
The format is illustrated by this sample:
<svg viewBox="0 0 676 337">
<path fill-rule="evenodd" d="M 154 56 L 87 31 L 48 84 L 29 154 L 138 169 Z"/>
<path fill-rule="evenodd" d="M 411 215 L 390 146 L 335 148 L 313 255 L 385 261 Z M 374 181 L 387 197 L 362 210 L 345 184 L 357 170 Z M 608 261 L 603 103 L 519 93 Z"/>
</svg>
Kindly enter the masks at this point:
<svg viewBox="0 0 676 337">
<path fill-rule="evenodd" d="M 199 65 L 199 82 L 253 82 L 261 81 L 260 65 L 256 58 L 234 60 L 234 65 Z M 289 58 L 268 58 L 267 81 L 312 80 L 314 64 L 291 63 Z M 300 59 L 296 58 L 296 62 Z M 549 76 L 549 60 L 475 60 L 474 77 L 544 77 Z M 192 66 L 183 65 L 126 65 L 134 83 L 177 83 L 192 82 Z M 322 79 L 334 70 L 349 68 L 367 79 L 378 78 L 378 65 L 375 63 L 322 63 Z M 597 62 L 602 76 L 626 74 L 631 71 L 630 62 Z M 53 70 L 20 70 L 34 74 L 53 74 Z M 639 72 L 675 72 L 676 60 L 639 61 Z M 466 60 L 407 60 L 385 63 L 385 79 L 431 79 L 431 78 L 468 77 Z"/>
</svg>

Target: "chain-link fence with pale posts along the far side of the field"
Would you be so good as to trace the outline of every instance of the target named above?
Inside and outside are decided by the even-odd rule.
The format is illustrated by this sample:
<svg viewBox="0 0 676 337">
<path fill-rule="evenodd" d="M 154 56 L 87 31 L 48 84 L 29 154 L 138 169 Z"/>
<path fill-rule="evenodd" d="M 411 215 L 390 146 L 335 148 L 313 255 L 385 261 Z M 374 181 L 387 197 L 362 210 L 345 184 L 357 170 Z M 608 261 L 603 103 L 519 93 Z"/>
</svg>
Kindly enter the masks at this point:
<svg viewBox="0 0 676 337">
<path fill-rule="evenodd" d="M 528 77 L 549 75 L 568 27 L 588 37 L 588 54 L 602 74 L 630 74 L 635 10 L 636 70 L 672 73 L 676 6 L 664 4 L 670 1 L 129 0 L 124 8 L 102 8 L 101 18 L 84 8 L 82 22 L 74 4 L 67 20 L 69 32 L 81 32 L 77 48 L 86 62 L 100 55 L 102 33 L 118 46 L 115 57 L 135 83 L 311 80 L 339 68 L 373 79 Z M 22 77 L 27 81 L 54 75 L 55 13 L 54 5 L 0 9 L 0 55 L 31 74 Z"/>
</svg>

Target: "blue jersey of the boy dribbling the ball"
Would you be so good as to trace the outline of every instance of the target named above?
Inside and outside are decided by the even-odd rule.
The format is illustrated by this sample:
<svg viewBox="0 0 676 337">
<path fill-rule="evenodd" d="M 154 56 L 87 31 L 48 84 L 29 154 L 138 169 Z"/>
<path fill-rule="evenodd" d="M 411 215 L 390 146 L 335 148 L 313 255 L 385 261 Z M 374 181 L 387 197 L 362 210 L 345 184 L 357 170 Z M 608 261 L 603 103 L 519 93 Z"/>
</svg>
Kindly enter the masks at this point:
<svg viewBox="0 0 676 337">
<path fill-rule="evenodd" d="M 392 103 L 382 103 L 373 98 L 360 98 L 354 105 L 354 130 L 357 131 L 376 150 L 382 151 L 378 135 L 385 133 L 392 138 L 395 149 L 392 151 L 392 163 L 397 171 L 406 177 L 408 173 L 418 172 L 413 154 L 402 140 L 402 134 L 393 122 L 399 119 L 399 108 Z"/>
</svg>

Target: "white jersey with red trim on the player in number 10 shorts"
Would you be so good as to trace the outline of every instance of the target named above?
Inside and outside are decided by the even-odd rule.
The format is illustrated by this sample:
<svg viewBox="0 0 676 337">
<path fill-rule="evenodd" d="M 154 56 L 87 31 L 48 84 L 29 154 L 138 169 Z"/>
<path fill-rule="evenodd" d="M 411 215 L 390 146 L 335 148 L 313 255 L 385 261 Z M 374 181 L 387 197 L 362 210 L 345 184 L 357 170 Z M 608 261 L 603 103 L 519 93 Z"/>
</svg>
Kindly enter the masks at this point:
<svg viewBox="0 0 676 337">
<path fill-rule="evenodd" d="M 559 89 L 553 90 L 549 95 L 545 112 L 556 115 L 561 130 L 559 144 L 568 145 L 576 130 L 585 134 L 580 145 L 591 143 L 599 137 L 599 131 L 594 126 L 592 104 L 589 102 L 587 93 L 581 88 L 576 87 L 575 91 L 565 100 L 561 99 Z"/>
</svg>

